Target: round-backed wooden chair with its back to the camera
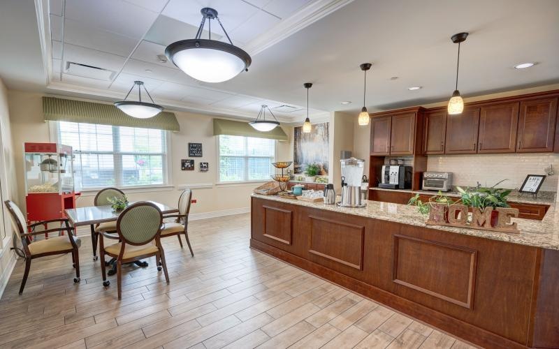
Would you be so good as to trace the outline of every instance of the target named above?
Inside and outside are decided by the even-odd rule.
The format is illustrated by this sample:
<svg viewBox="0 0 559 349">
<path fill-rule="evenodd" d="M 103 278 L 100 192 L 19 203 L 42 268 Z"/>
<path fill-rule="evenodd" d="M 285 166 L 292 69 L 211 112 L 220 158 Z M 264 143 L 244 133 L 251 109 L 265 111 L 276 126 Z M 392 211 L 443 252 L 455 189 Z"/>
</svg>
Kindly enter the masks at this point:
<svg viewBox="0 0 559 349">
<path fill-rule="evenodd" d="M 169 283 L 169 274 L 165 262 L 165 253 L 161 246 L 161 223 L 163 217 L 161 210 L 151 202 L 137 202 L 122 211 L 117 220 L 117 233 L 120 242 L 106 246 L 103 237 L 112 239 L 107 232 L 101 232 L 99 237 L 99 252 L 101 260 L 105 260 L 105 255 L 116 259 L 117 263 L 117 283 L 118 299 L 122 297 L 122 265 L 137 260 L 142 260 L 154 255 L 158 262 L 161 262 L 165 272 L 165 279 Z M 155 244 L 150 244 L 155 240 Z M 161 267 L 157 267 L 161 271 Z M 103 286 L 110 285 L 107 281 L 105 268 L 101 268 L 103 274 Z"/>
</svg>

